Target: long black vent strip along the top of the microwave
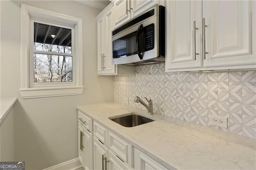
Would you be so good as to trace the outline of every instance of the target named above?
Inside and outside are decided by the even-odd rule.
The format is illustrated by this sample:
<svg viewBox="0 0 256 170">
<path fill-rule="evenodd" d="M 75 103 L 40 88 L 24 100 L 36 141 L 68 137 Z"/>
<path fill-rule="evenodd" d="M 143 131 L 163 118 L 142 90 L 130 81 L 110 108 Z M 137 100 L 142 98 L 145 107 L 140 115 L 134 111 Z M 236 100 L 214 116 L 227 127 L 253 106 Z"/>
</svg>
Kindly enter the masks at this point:
<svg viewBox="0 0 256 170">
<path fill-rule="evenodd" d="M 154 15 L 154 9 L 146 12 L 145 14 L 142 14 L 141 16 L 139 16 L 137 18 L 134 18 L 130 22 L 128 22 L 128 23 L 124 24 L 123 26 L 117 28 L 116 30 L 114 30 L 112 32 L 112 36 L 118 34 L 119 32 L 125 30 L 126 28 L 129 28 L 130 26 L 133 26 L 133 25 L 135 25 L 135 24 L 137 24 L 137 23 L 139 23 L 139 22 L 141 22 L 141 21 L 143 21 L 143 20 L 145 20 L 145 19 L 147 19 L 147 18 L 149 18 L 153 15 Z"/>
</svg>

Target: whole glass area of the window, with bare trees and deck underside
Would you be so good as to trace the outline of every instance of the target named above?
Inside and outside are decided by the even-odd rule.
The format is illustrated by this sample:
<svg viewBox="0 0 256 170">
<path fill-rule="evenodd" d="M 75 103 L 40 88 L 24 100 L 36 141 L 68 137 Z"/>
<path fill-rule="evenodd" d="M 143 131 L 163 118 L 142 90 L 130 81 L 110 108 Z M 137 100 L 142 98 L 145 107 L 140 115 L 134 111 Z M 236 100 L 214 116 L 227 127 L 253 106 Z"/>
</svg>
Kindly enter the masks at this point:
<svg viewBox="0 0 256 170">
<path fill-rule="evenodd" d="M 68 28 L 34 22 L 34 82 L 72 81 L 71 32 Z"/>
</svg>

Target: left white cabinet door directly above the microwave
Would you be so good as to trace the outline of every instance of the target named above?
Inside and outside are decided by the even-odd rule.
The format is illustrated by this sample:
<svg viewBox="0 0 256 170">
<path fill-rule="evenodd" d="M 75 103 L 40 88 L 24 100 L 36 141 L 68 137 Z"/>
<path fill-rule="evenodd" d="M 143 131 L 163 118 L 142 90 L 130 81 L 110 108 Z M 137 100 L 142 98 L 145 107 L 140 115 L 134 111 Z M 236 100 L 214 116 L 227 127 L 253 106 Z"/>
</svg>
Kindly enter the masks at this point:
<svg viewBox="0 0 256 170">
<path fill-rule="evenodd" d="M 130 19 L 130 1 L 115 0 L 114 1 L 115 27 L 120 26 Z"/>
</svg>

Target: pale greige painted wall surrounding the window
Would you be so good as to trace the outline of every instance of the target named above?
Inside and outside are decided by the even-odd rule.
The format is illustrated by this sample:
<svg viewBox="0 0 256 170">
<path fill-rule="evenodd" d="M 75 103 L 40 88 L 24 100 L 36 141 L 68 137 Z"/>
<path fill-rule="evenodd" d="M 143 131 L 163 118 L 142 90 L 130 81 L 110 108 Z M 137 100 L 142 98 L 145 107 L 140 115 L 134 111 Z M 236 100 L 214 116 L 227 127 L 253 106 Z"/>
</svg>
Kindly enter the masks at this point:
<svg viewBox="0 0 256 170">
<path fill-rule="evenodd" d="M 76 105 L 114 100 L 114 78 L 97 76 L 95 8 L 75 1 L 0 1 L 1 98 L 14 106 L 15 160 L 26 169 L 43 169 L 78 157 Z M 66 97 L 20 97 L 20 4 L 83 19 L 84 93 Z"/>
</svg>

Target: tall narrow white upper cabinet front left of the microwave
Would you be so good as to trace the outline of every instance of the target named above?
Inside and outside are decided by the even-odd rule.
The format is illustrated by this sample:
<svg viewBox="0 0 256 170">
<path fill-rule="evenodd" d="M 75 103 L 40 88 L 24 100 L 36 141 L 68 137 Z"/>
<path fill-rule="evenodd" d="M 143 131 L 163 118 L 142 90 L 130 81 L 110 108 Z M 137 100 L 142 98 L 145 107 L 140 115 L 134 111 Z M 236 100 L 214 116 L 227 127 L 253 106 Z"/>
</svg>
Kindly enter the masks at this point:
<svg viewBox="0 0 256 170">
<path fill-rule="evenodd" d="M 113 8 L 110 8 L 97 20 L 98 31 L 98 75 L 116 73 L 116 65 L 112 64 L 112 30 Z"/>
</svg>

